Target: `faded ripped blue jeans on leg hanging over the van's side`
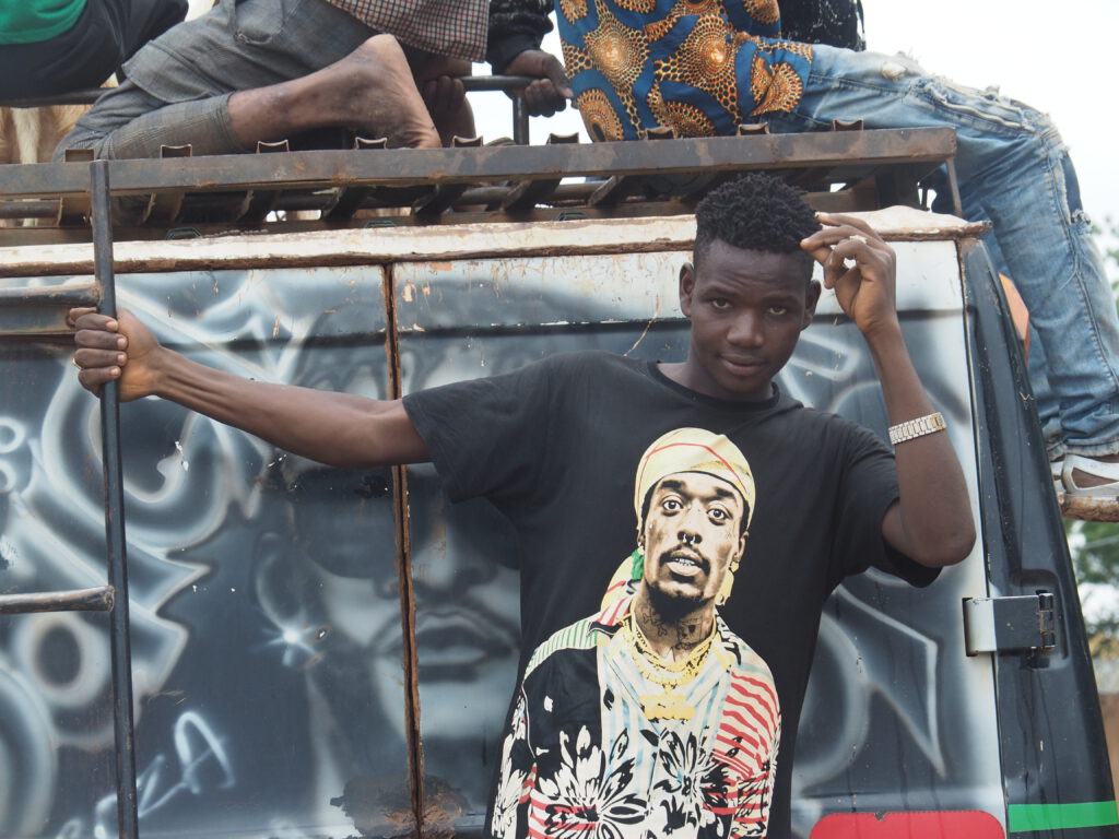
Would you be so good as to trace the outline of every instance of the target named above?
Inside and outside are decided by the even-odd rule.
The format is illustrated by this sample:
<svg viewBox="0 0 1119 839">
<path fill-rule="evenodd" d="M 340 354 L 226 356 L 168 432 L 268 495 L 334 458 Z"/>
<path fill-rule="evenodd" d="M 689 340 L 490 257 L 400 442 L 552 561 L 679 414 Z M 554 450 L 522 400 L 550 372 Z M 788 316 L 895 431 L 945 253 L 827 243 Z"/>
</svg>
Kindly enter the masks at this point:
<svg viewBox="0 0 1119 839">
<path fill-rule="evenodd" d="M 868 129 L 955 128 L 963 214 L 994 224 L 995 264 L 1013 279 L 1037 337 L 1029 377 L 1050 456 L 1119 453 L 1119 318 L 1075 171 L 1049 117 L 930 76 L 901 56 L 814 51 L 800 105 L 768 114 L 771 130 L 856 119 Z"/>
</svg>

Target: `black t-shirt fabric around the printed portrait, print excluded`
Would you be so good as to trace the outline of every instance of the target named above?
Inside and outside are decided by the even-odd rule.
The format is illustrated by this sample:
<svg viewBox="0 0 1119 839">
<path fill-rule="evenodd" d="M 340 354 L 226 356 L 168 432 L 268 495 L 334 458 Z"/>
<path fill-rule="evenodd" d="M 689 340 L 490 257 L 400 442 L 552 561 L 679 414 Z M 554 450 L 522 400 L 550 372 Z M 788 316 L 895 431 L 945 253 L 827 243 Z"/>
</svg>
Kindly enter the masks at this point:
<svg viewBox="0 0 1119 839">
<path fill-rule="evenodd" d="M 488 498 L 519 535 L 525 656 L 593 613 L 633 550 L 634 472 L 650 443 L 698 427 L 739 446 L 756 498 L 734 595 L 720 612 L 777 684 L 784 760 L 770 836 L 787 836 L 790 757 L 825 601 L 845 576 L 872 566 L 916 585 L 935 577 L 882 539 L 897 498 L 885 444 L 775 388 L 762 403 L 725 402 L 671 381 L 655 364 L 605 352 L 553 356 L 412 394 L 404 406 L 450 498 Z"/>
</svg>

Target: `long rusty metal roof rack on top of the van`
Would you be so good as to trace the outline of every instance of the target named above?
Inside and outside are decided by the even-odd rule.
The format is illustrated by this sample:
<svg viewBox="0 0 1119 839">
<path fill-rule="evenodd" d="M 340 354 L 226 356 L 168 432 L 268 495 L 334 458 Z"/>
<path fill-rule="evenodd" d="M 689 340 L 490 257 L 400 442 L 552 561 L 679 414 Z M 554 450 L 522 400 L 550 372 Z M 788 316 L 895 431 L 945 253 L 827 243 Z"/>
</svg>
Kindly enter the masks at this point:
<svg viewBox="0 0 1119 839">
<path fill-rule="evenodd" d="M 163 238 L 233 225 L 336 229 L 369 223 L 361 210 L 376 210 L 376 224 L 395 225 L 676 215 L 721 180 L 750 170 L 803 187 L 820 209 L 865 210 L 916 204 L 918 181 L 950 164 L 956 152 L 951 129 L 750 129 L 740 136 L 657 142 L 554 136 L 546 145 L 483 147 L 476 139 L 423 150 L 364 142 L 348 151 L 117 160 L 110 163 L 112 195 L 134 205 L 134 217 L 114 234 Z M 0 217 L 54 217 L 62 225 L 0 229 L 0 245 L 87 242 L 85 172 L 76 162 L 0 166 Z M 270 215 L 275 210 L 317 217 L 293 221 Z"/>
</svg>

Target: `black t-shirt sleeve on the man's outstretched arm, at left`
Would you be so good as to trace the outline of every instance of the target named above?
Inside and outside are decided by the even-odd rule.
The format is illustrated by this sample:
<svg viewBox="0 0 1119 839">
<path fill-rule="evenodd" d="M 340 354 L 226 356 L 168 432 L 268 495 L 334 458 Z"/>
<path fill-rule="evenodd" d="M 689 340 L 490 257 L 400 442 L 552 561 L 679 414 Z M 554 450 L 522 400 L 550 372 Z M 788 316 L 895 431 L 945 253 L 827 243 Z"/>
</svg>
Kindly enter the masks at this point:
<svg viewBox="0 0 1119 839">
<path fill-rule="evenodd" d="M 452 501 L 486 497 L 499 508 L 532 501 L 549 415 L 547 361 L 404 397 Z"/>
</svg>

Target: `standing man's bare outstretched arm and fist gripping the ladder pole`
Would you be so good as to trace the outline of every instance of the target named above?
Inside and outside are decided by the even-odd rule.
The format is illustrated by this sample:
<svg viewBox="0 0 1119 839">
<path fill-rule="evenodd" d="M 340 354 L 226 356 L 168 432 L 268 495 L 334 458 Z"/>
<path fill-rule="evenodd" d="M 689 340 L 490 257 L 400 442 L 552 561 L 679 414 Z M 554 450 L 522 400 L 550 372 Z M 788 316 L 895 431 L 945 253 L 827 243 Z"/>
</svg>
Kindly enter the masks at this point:
<svg viewBox="0 0 1119 839">
<path fill-rule="evenodd" d="M 170 399 L 311 460 L 375 469 L 430 460 L 399 399 L 278 385 L 215 370 L 162 347 L 128 312 L 119 319 L 74 309 L 78 380 L 100 394 L 119 383 L 122 402 Z"/>
</svg>

